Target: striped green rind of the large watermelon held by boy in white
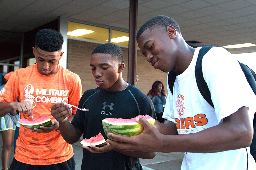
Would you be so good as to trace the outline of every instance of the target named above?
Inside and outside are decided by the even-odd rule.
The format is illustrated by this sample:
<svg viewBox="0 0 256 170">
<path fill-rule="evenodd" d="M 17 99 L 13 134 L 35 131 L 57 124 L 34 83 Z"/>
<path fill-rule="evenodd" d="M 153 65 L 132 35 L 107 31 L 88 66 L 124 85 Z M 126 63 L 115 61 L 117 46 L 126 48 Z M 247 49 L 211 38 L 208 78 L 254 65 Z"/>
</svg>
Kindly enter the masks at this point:
<svg viewBox="0 0 256 170">
<path fill-rule="evenodd" d="M 154 125 L 155 119 L 148 119 L 148 122 Z M 104 133 L 106 134 L 108 139 L 112 141 L 116 140 L 108 136 L 108 133 L 113 133 L 122 136 L 135 136 L 139 135 L 144 129 L 144 127 L 139 123 L 128 123 L 127 125 L 124 124 L 111 124 L 110 122 L 105 122 L 105 120 L 102 120 Z"/>
</svg>

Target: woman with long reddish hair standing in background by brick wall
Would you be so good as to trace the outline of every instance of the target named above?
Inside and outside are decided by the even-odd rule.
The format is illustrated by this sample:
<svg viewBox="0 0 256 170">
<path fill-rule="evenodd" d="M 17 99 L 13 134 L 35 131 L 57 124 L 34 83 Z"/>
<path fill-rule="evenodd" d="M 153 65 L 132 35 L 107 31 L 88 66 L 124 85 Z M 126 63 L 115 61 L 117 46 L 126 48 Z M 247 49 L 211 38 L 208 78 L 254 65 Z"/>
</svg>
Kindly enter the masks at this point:
<svg viewBox="0 0 256 170">
<path fill-rule="evenodd" d="M 147 95 L 153 102 L 158 122 L 164 123 L 165 119 L 162 116 L 167 98 L 167 94 L 164 91 L 164 84 L 156 80 Z"/>
</svg>

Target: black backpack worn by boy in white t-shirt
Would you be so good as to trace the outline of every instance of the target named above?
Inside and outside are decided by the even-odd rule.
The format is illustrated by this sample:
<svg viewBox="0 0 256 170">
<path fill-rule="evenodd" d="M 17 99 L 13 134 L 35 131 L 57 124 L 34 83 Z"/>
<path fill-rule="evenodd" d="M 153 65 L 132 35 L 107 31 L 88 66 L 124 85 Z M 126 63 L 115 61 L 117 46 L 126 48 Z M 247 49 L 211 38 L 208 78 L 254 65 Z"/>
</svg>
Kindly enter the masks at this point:
<svg viewBox="0 0 256 170">
<path fill-rule="evenodd" d="M 195 65 L 195 77 L 196 77 L 197 87 L 198 87 L 200 93 L 202 94 L 204 99 L 214 108 L 214 105 L 213 105 L 212 99 L 211 99 L 211 93 L 207 86 L 207 83 L 205 82 L 205 79 L 203 77 L 203 71 L 202 71 L 203 56 L 212 47 L 213 46 L 205 46 L 199 50 L 197 63 Z M 239 62 L 239 64 L 240 64 L 241 69 L 243 70 L 243 73 L 244 73 L 248 83 L 250 84 L 254 94 L 256 95 L 256 74 L 255 74 L 255 72 L 252 69 L 250 69 L 247 65 L 240 63 L 240 62 Z M 174 86 L 176 76 L 177 76 L 177 74 L 173 70 L 170 71 L 168 74 L 168 84 L 169 84 L 169 88 L 172 93 L 173 93 L 173 86 Z M 253 133 L 253 140 L 252 140 L 252 143 L 250 146 L 250 153 L 256 162 L 256 113 L 254 114 L 254 118 L 253 118 L 253 131 L 254 131 L 254 133 Z M 247 159 L 247 162 L 248 162 L 248 159 Z M 247 166 L 248 166 L 248 164 L 247 164 Z"/>
</svg>

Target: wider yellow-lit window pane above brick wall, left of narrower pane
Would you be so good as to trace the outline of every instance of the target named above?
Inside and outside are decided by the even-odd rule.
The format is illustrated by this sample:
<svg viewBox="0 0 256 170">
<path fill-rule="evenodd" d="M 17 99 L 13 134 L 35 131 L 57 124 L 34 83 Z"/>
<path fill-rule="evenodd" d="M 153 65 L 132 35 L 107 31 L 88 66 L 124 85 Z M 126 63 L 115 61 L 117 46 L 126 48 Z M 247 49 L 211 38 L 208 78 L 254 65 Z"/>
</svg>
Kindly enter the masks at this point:
<svg viewBox="0 0 256 170">
<path fill-rule="evenodd" d="M 109 39 L 109 29 L 69 21 L 68 37 L 106 43 Z"/>
</svg>

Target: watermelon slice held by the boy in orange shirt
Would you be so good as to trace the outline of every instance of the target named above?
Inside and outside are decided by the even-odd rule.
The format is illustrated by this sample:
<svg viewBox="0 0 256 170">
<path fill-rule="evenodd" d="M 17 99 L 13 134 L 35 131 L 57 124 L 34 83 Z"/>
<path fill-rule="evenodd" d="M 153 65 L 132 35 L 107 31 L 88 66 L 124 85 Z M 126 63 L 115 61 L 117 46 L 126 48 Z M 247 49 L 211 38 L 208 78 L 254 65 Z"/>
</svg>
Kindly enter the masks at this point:
<svg viewBox="0 0 256 170">
<path fill-rule="evenodd" d="M 38 118 L 34 118 L 34 120 L 28 120 L 25 118 L 22 118 L 20 120 L 18 120 L 18 123 L 25 127 L 25 128 L 29 128 L 29 129 L 34 129 L 34 128 L 38 128 L 40 126 L 51 126 L 51 119 L 49 118 L 48 115 L 42 115 Z"/>
</svg>

